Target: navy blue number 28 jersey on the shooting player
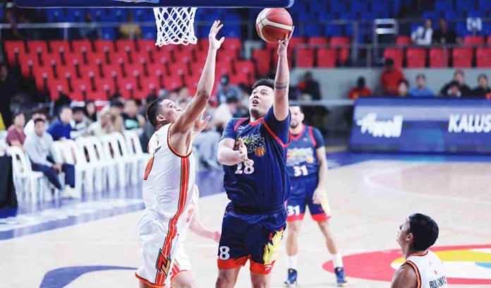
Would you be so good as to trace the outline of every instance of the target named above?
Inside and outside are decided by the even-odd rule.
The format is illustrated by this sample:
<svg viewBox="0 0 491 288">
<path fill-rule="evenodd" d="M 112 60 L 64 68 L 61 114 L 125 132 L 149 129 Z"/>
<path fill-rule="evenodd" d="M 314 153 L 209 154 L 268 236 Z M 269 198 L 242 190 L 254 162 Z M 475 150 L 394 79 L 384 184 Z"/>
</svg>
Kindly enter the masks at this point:
<svg viewBox="0 0 491 288">
<path fill-rule="evenodd" d="M 257 121 L 232 119 L 222 139 L 242 138 L 251 166 L 240 162 L 224 165 L 224 187 L 232 203 L 244 210 L 269 211 L 284 205 L 290 193 L 286 172 L 286 147 L 289 143 L 290 115 L 283 121 L 274 117 L 273 108 Z M 237 143 L 237 142 L 236 142 Z"/>
</svg>

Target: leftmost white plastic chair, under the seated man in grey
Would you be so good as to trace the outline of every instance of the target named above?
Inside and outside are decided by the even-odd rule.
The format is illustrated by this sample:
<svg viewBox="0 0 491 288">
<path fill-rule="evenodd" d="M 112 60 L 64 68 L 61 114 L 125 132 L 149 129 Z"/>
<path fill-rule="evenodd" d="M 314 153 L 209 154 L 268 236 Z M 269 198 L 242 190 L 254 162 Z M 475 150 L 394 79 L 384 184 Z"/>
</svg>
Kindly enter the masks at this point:
<svg viewBox="0 0 491 288">
<path fill-rule="evenodd" d="M 7 152 L 12 157 L 13 179 L 16 189 L 20 191 L 20 198 L 26 200 L 30 194 L 32 203 L 38 203 L 45 186 L 42 172 L 32 171 L 29 157 L 18 147 L 9 147 Z"/>
</svg>

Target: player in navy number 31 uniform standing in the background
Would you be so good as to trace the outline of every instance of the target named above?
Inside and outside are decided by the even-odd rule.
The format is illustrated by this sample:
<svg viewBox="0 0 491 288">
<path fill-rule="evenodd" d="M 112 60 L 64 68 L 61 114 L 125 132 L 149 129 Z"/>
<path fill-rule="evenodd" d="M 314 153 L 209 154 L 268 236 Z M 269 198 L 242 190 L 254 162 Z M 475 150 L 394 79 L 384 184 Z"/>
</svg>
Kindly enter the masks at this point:
<svg viewBox="0 0 491 288">
<path fill-rule="evenodd" d="M 327 203 L 327 159 L 324 140 L 317 128 L 303 124 L 304 114 L 300 106 L 291 106 L 291 143 L 286 156 L 286 169 L 290 176 L 291 191 L 288 210 L 288 277 L 284 284 L 293 287 L 297 283 L 298 233 L 305 213 L 305 206 L 324 234 L 327 250 L 332 255 L 338 286 L 346 283 L 343 260 L 329 229 L 329 205 Z"/>
</svg>

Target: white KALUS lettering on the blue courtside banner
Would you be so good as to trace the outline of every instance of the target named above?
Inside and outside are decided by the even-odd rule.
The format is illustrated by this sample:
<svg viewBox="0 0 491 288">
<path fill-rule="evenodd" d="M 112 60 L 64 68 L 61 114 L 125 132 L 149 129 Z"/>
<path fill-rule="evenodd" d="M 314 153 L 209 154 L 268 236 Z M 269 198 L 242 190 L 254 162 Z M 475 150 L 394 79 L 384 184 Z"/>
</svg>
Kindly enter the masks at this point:
<svg viewBox="0 0 491 288">
<path fill-rule="evenodd" d="M 450 114 L 449 133 L 490 133 L 491 114 Z"/>
</svg>

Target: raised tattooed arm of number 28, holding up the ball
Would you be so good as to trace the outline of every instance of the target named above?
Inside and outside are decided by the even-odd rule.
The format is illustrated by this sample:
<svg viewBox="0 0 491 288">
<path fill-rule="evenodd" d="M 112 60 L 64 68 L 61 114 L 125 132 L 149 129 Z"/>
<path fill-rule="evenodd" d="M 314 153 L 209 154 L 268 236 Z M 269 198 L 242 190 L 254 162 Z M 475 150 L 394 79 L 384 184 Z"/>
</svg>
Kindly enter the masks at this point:
<svg viewBox="0 0 491 288">
<path fill-rule="evenodd" d="M 274 117 L 283 121 L 288 117 L 288 90 L 290 85 L 290 69 L 288 67 L 288 44 L 293 35 L 293 28 L 283 41 L 278 40 L 278 66 L 276 77 L 274 78 Z"/>
</svg>

